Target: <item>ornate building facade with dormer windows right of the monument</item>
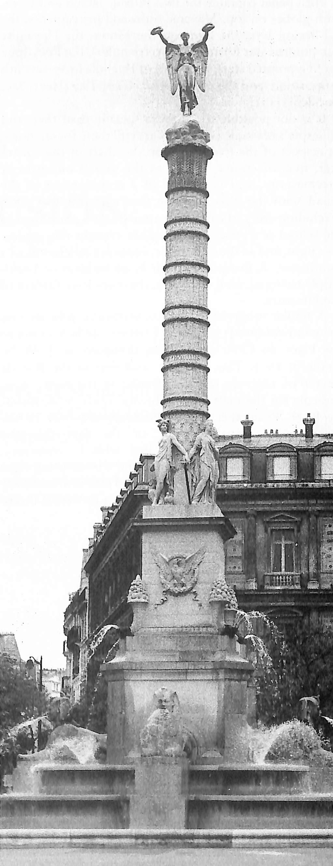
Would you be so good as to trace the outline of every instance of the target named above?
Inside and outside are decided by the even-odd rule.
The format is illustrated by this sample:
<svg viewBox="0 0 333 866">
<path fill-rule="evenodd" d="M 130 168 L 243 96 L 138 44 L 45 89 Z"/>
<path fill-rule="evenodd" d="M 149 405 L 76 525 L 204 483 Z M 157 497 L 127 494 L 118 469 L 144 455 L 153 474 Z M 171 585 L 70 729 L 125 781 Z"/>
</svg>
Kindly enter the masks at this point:
<svg viewBox="0 0 333 866">
<path fill-rule="evenodd" d="M 217 499 L 237 529 L 226 545 L 227 582 L 239 603 L 288 617 L 292 608 L 319 611 L 333 622 L 333 436 L 221 436 L 219 447 Z M 241 476 L 228 477 L 241 462 Z"/>
</svg>

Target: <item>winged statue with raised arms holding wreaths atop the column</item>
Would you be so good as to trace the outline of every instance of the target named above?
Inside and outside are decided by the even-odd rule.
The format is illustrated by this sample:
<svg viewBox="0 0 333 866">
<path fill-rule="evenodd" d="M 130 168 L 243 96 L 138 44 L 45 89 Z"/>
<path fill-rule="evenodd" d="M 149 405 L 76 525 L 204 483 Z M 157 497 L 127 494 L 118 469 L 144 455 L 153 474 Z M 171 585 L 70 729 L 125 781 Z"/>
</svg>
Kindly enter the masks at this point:
<svg viewBox="0 0 333 866">
<path fill-rule="evenodd" d="M 205 34 L 201 42 L 189 45 L 189 33 L 182 33 L 183 45 L 173 45 L 162 36 L 163 28 L 154 27 L 151 36 L 159 36 L 165 47 L 165 59 L 170 78 L 171 94 L 176 94 L 179 87 L 181 108 L 183 114 L 191 114 L 198 100 L 195 96 L 195 84 L 205 91 L 205 78 L 208 61 L 207 40 L 209 30 L 214 24 L 205 24 L 202 31 Z"/>
</svg>

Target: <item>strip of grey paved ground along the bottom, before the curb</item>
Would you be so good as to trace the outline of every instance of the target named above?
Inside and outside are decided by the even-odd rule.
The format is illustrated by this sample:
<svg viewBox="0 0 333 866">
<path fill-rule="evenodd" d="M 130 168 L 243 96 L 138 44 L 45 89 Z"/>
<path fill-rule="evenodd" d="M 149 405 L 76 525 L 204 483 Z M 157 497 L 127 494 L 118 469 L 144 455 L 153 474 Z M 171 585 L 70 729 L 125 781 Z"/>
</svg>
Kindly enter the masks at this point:
<svg viewBox="0 0 333 866">
<path fill-rule="evenodd" d="M 1 851 L 1 866 L 332 866 L 331 848 L 293 850 L 115 850 L 10 849 Z"/>
</svg>

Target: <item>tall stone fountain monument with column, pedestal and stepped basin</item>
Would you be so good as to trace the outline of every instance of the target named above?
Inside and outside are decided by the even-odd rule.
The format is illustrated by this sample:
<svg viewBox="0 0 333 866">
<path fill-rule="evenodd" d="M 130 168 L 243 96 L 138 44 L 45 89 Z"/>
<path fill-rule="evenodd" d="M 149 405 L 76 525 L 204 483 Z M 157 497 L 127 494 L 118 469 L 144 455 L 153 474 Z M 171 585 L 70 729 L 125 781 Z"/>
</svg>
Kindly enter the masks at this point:
<svg viewBox="0 0 333 866">
<path fill-rule="evenodd" d="M 3 804 L 9 828 L 323 827 L 332 815 L 332 795 L 311 792 L 309 766 L 251 760 L 253 665 L 231 627 L 238 605 L 225 578 L 224 542 L 235 530 L 215 501 L 219 455 L 208 421 L 213 152 L 190 112 L 166 138 L 161 441 L 152 501 L 136 521 L 142 573 L 129 593 L 131 636 L 102 666 L 106 763 L 39 759 L 31 783 L 31 759 L 22 759 Z"/>
</svg>

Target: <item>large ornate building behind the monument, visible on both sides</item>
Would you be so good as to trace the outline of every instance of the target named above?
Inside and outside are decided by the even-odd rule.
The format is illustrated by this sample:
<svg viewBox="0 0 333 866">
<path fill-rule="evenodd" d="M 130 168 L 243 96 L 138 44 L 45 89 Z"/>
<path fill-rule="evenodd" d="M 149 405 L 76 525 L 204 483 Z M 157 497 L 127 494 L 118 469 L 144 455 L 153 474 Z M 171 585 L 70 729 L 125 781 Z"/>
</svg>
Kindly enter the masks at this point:
<svg viewBox="0 0 333 866">
<path fill-rule="evenodd" d="M 227 583 L 244 610 L 282 621 L 316 613 L 333 622 L 333 434 L 314 435 L 310 415 L 292 434 L 252 436 L 253 422 L 241 423 L 242 434 L 218 437 L 217 503 L 237 530 L 226 543 Z M 153 462 L 140 457 L 116 502 L 101 508 L 102 522 L 84 552 L 86 592 L 80 587 L 65 613 L 75 695 L 74 681 L 79 676 L 82 689 L 86 675 L 82 648 L 108 624 L 131 626 L 127 593 L 141 574 L 140 520 Z"/>
</svg>

